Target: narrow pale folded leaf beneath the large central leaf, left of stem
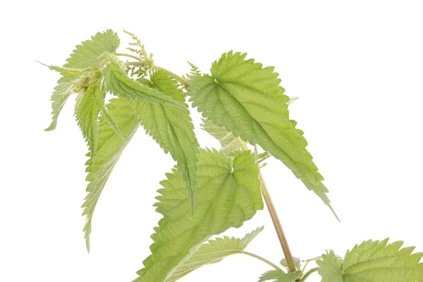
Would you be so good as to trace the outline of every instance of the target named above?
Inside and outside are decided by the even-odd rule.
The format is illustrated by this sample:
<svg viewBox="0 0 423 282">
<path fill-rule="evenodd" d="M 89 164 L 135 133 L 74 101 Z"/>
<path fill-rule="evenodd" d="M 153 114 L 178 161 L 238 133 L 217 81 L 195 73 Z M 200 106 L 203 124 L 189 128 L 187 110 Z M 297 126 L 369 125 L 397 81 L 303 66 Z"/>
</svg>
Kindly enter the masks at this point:
<svg viewBox="0 0 423 282">
<path fill-rule="evenodd" d="M 216 238 L 200 245 L 200 248 L 191 252 L 178 266 L 176 266 L 166 281 L 173 282 L 189 274 L 206 264 L 220 262 L 229 255 L 235 255 L 243 252 L 247 245 L 263 230 L 263 226 L 247 233 L 244 238 Z"/>
</svg>

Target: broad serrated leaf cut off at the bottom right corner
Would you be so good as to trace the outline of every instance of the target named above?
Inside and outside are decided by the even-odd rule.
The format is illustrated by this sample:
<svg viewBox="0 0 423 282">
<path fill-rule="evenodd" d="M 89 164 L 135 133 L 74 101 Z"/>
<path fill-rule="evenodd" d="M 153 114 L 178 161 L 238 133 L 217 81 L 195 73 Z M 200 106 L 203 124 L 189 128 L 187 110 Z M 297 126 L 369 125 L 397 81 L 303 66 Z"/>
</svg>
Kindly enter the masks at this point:
<svg viewBox="0 0 423 282">
<path fill-rule="evenodd" d="M 355 245 L 345 255 L 342 268 L 333 259 L 333 255 L 329 259 L 323 256 L 318 262 L 319 266 L 331 267 L 331 275 L 336 280 L 331 280 L 327 271 L 319 270 L 319 274 L 324 278 L 323 281 L 328 282 L 422 282 L 423 263 L 420 263 L 420 259 L 423 252 L 412 254 L 414 247 L 400 249 L 402 241 L 387 243 L 388 239 L 380 242 L 364 241 Z"/>
</svg>

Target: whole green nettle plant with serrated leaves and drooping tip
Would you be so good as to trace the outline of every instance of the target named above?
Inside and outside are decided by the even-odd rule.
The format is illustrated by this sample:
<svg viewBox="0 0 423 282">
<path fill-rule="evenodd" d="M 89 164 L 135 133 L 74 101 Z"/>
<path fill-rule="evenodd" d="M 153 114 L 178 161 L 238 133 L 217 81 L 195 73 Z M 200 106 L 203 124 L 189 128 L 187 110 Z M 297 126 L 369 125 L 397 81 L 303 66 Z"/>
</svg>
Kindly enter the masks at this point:
<svg viewBox="0 0 423 282">
<path fill-rule="evenodd" d="M 154 228 L 152 252 L 137 271 L 137 282 L 171 282 L 191 271 L 244 254 L 269 264 L 259 281 L 306 281 L 318 271 L 324 282 L 422 282 L 422 252 L 403 248 L 403 242 L 364 241 L 341 258 L 330 250 L 314 259 L 291 255 L 286 237 L 260 173 L 269 157 L 281 160 L 295 177 L 333 212 L 307 141 L 290 120 L 293 101 L 284 94 L 274 68 L 247 59 L 246 53 L 224 53 L 212 63 L 211 73 L 195 65 L 182 77 L 154 65 L 152 55 L 130 34 L 130 53 L 117 51 L 120 40 L 111 30 L 99 32 L 76 46 L 63 67 L 48 66 L 61 74 L 51 97 L 56 127 L 63 105 L 77 94 L 75 117 L 87 141 L 87 197 L 82 207 L 87 249 L 94 208 L 123 149 L 137 129 L 170 153 L 176 166 L 161 181 L 155 204 L 163 215 Z M 115 96 L 106 98 L 106 94 Z M 200 148 L 187 101 L 203 115 L 202 129 L 218 139 L 221 149 Z M 253 147 L 250 147 L 253 146 Z M 258 147 L 259 146 L 259 147 Z M 209 240 L 251 219 L 264 203 L 284 259 L 274 264 L 247 252 L 247 245 L 263 227 L 244 238 Z M 318 267 L 308 268 L 311 261 Z"/>
</svg>

